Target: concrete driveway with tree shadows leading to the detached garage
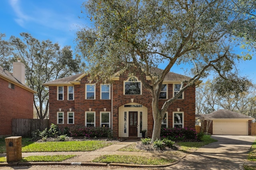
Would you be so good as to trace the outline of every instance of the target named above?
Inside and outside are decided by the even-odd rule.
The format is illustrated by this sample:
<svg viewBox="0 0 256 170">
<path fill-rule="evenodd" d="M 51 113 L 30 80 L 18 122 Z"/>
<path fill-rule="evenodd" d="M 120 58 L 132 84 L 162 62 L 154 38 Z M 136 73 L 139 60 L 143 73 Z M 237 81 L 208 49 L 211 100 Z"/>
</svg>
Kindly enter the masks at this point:
<svg viewBox="0 0 256 170">
<path fill-rule="evenodd" d="M 247 153 L 255 136 L 212 135 L 218 142 L 210 143 L 187 155 L 169 170 L 239 170 L 246 162 Z"/>
</svg>

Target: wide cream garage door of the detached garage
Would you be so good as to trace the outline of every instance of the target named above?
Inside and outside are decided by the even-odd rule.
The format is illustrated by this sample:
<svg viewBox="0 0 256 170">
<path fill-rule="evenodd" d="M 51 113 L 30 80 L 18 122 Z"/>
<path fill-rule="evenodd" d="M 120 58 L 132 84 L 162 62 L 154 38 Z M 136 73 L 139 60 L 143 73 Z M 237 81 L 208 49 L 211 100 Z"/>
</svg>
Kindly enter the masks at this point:
<svg viewBox="0 0 256 170">
<path fill-rule="evenodd" d="M 248 121 L 213 120 L 214 135 L 248 135 Z"/>
</svg>

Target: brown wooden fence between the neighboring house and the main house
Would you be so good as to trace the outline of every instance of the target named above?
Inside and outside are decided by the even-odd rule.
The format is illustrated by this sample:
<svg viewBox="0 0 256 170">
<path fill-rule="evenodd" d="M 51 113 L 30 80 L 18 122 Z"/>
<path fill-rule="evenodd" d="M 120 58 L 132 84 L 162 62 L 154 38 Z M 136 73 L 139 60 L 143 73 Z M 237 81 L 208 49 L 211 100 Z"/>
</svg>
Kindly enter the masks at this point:
<svg viewBox="0 0 256 170">
<path fill-rule="evenodd" d="M 32 131 L 49 128 L 49 119 L 12 119 L 12 135 L 30 137 Z"/>
</svg>

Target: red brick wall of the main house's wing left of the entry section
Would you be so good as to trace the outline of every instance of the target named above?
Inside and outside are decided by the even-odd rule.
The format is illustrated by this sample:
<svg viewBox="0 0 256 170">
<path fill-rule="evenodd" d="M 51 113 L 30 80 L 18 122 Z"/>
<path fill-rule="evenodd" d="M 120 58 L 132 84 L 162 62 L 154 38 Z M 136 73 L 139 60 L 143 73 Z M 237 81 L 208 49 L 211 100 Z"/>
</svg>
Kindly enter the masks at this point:
<svg viewBox="0 0 256 170">
<path fill-rule="evenodd" d="M 80 85 L 74 86 L 75 100 L 67 100 L 67 86 L 64 86 L 64 100 L 57 100 L 57 86 L 49 87 L 50 123 L 57 124 L 57 111 L 61 108 L 61 111 L 64 111 L 64 124 L 58 124 L 58 127 L 63 130 L 65 127 L 74 126 L 67 123 L 67 112 L 69 108 L 72 108 L 75 125 L 85 126 L 85 112 L 92 108 L 91 111 L 96 112 L 96 126 L 100 126 L 100 111 L 104 111 L 104 107 L 106 107 L 106 111 L 111 112 L 111 100 L 100 100 L 100 83 L 96 84 L 96 99 L 86 100 L 85 84 L 91 84 L 86 81 L 86 77 L 81 79 Z"/>
</svg>

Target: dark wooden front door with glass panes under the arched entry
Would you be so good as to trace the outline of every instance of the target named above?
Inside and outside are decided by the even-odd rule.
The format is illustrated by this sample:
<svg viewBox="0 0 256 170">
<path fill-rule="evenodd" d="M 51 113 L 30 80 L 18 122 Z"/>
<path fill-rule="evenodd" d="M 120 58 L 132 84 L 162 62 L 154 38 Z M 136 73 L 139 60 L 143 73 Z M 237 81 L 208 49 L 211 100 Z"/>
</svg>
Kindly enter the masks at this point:
<svg viewBox="0 0 256 170">
<path fill-rule="evenodd" d="M 138 136 L 138 111 L 129 111 L 129 137 Z"/>
</svg>

